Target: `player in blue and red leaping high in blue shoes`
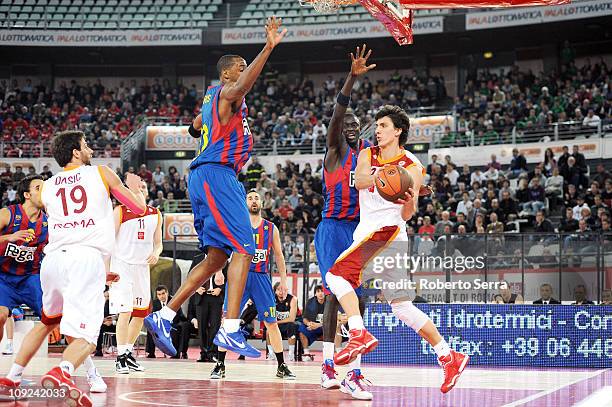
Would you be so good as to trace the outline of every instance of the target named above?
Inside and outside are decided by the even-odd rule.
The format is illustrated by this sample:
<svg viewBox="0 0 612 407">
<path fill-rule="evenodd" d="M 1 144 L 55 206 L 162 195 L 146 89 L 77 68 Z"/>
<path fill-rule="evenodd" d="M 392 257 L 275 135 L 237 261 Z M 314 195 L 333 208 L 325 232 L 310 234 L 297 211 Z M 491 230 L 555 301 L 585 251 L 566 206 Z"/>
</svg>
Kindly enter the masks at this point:
<svg viewBox="0 0 612 407">
<path fill-rule="evenodd" d="M 207 251 L 207 256 L 189 273 L 168 305 L 145 318 L 155 344 L 168 355 L 176 354 L 170 338 L 176 311 L 204 281 L 223 268 L 230 254 L 233 255 L 228 268 L 227 314 L 213 342 L 244 356 L 261 355 L 239 331 L 240 300 L 255 254 L 255 242 L 245 190 L 237 174 L 253 148 L 244 97 L 287 33 L 286 29 L 279 31 L 280 25 L 281 20 L 276 17 L 267 20 L 266 45 L 249 66 L 237 55 L 219 59 L 221 85 L 208 88 L 202 113 L 189 127 L 189 133 L 200 138 L 197 156 L 190 166 L 189 197 L 200 249 Z"/>
</svg>

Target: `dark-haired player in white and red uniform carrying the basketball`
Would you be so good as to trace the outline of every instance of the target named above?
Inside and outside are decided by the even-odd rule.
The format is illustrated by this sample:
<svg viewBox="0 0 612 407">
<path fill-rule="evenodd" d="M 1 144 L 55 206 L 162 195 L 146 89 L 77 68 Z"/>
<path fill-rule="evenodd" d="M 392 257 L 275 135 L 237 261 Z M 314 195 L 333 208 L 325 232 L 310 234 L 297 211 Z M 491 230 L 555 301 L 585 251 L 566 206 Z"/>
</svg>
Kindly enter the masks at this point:
<svg viewBox="0 0 612 407">
<path fill-rule="evenodd" d="M 376 140 L 378 145 L 364 149 L 359 154 L 355 172 L 355 186 L 359 190 L 360 221 L 354 234 L 354 242 L 340 255 L 327 274 L 327 284 L 338 297 L 348 315 L 349 343 L 338 352 L 334 361 L 344 365 L 357 355 L 373 350 L 378 340 L 364 327 L 359 312 L 359 301 L 354 289 L 361 283 L 361 274 L 366 265 L 381 250 L 393 242 L 406 242 L 406 221 L 418 209 L 418 195 L 423 185 L 425 168 L 410 152 L 403 149 L 408 138 L 410 119 L 397 106 L 383 106 L 376 114 Z M 411 175 L 414 185 L 404 199 L 389 202 L 383 199 L 375 187 L 378 170 L 385 165 L 404 167 Z M 416 308 L 405 292 L 387 296 L 393 313 L 433 346 L 438 360 L 444 368 L 443 393 L 451 390 L 469 357 L 450 349 L 429 317 Z"/>
</svg>

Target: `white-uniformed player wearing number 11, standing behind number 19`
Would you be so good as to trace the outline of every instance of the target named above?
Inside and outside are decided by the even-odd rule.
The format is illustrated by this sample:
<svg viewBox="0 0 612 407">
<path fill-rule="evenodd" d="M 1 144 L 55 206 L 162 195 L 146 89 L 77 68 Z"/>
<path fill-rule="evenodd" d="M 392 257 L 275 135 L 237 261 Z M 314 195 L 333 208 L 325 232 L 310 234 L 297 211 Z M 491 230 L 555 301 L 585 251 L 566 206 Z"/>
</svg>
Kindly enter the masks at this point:
<svg viewBox="0 0 612 407">
<path fill-rule="evenodd" d="M 141 191 L 147 196 L 147 185 Z M 147 206 L 144 215 L 137 215 L 125 205 L 114 210 L 117 241 L 111 255 L 110 271 L 119 275 L 109 290 L 109 310 L 119 314 L 117 319 L 117 373 L 144 368 L 132 355 L 134 343 L 140 335 L 144 317 L 151 305 L 150 265 L 157 264 L 162 252 L 162 217 L 159 209 Z M 131 320 L 130 320 L 131 317 Z"/>
</svg>

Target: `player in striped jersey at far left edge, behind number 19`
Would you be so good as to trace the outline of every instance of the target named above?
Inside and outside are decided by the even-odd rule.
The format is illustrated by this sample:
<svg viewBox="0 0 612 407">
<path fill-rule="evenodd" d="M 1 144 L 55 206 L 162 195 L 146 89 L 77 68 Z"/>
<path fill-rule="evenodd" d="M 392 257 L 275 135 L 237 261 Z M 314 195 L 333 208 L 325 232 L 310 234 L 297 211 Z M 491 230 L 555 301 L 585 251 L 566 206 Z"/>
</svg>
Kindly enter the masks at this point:
<svg viewBox="0 0 612 407">
<path fill-rule="evenodd" d="M 40 175 L 25 177 L 17 186 L 20 203 L 0 210 L 0 340 L 13 308 L 26 304 L 41 316 L 40 263 L 48 225 L 42 185 Z"/>
</svg>

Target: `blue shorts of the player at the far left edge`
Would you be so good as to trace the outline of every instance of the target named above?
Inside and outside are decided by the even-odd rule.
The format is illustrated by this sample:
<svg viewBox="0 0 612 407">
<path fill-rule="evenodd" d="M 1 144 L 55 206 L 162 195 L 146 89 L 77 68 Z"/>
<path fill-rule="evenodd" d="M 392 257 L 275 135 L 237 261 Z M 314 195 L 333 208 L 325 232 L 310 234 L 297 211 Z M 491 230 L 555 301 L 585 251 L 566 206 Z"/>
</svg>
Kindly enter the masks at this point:
<svg viewBox="0 0 612 407">
<path fill-rule="evenodd" d="M 40 274 L 15 276 L 0 273 L 0 307 L 7 307 L 10 312 L 21 304 L 26 304 L 38 317 L 41 316 Z"/>
</svg>

